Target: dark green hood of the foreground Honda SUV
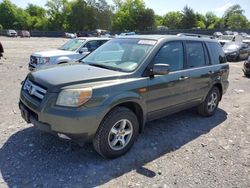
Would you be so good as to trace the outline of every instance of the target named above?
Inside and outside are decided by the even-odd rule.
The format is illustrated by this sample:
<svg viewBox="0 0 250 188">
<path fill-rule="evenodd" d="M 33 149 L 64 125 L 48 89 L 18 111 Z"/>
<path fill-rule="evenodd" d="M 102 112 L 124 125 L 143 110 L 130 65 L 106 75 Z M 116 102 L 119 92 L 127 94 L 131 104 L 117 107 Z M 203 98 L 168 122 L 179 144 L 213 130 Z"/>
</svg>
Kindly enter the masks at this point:
<svg viewBox="0 0 250 188">
<path fill-rule="evenodd" d="M 29 79 L 48 89 L 58 92 L 62 87 L 117 79 L 126 73 L 94 67 L 86 64 L 63 64 L 40 69 L 29 74 Z"/>
</svg>

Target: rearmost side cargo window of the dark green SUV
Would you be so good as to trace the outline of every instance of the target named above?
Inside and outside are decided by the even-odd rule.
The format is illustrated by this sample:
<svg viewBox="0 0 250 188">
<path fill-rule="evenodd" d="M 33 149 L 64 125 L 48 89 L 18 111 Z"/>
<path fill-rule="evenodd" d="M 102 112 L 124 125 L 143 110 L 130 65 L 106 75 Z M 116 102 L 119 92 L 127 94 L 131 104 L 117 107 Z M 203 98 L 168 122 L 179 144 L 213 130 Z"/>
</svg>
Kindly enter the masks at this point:
<svg viewBox="0 0 250 188">
<path fill-rule="evenodd" d="M 212 59 L 212 64 L 226 63 L 227 59 L 222 50 L 222 47 L 217 42 L 207 42 L 207 46 Z"/>
</svg>

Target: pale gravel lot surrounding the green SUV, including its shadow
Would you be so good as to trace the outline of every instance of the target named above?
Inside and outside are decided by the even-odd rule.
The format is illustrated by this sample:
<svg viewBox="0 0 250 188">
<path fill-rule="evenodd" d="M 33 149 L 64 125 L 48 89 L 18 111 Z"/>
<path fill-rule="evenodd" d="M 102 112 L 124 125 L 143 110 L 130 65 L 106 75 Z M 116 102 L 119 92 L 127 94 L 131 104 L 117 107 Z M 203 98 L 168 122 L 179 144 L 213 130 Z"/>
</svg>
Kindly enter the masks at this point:
<svg viewBox="0 0 250 188">
<path fill-rule="evenodd" d="M 230 87 L 215 116 L 195 110 L 147 124 L 130 152 L 102 159 L 35 130 L 18 109 L 32 52 L 66 39 L 0 37 L 0 187 L 250 187 L 250 79 L 230 63 Z"/>
</svg>

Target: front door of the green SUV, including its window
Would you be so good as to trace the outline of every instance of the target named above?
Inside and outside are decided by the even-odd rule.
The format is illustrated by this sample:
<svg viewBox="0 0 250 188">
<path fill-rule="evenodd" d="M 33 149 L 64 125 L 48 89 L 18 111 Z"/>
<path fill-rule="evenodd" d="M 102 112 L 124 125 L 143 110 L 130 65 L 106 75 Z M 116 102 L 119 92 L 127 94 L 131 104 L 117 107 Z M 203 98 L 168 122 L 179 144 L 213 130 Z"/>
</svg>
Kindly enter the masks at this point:
<svg viewBox="0 0 250 188">
<path fill-rule="evenodd" d="M 181 41 L 168 42 L 155 56 L 154 64 L 168 64 L 170 73 L 148 79 L 148 119 L 155 119 L 181 108 L 189 99 L 189 72 L 183 70 L 184 50 Z"/>
</svg>

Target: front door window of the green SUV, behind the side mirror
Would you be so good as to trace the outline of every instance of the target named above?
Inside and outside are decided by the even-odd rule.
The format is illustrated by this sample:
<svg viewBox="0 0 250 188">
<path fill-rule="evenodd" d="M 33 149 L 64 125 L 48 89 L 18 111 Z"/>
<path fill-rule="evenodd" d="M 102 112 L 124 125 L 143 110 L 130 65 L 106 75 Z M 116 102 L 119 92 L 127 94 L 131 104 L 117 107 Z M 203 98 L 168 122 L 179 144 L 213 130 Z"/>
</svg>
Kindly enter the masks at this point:
<svg viewBox="0 0 250 188">
<path fill-rule="evenodd" d="M 182 42 L 166 43 L 155 56 L 154 64 L 169 64 L 170 71 L 183 69 Z"/>
</svg>

